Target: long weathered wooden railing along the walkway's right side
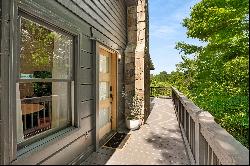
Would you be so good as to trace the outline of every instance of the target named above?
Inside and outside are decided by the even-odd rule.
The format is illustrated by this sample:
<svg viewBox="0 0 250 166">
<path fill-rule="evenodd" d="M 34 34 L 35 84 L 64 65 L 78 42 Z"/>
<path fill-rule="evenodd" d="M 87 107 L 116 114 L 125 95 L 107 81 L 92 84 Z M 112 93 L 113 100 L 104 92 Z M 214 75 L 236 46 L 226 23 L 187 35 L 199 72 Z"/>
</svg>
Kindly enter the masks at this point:
<svg viewBox="0 0 250 166">
<path fill-rule="evenodd" d="M 172 87 L 172 100 L 191 164 L 249 165 L 249 150 Z"/>
</svg>

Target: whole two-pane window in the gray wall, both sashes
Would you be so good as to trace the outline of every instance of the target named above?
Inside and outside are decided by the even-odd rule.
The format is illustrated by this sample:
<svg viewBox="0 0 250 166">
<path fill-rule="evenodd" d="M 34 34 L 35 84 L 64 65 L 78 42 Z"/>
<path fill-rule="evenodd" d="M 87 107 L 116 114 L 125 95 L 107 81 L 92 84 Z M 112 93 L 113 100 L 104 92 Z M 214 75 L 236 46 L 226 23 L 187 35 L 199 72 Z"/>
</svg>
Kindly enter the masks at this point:
<svg viewBox="0 0 250 166">
<path fill-rule="evenodd" d="M 21 17 L 17 143 L 73 124 L 73 36 Z"/>
</svg>

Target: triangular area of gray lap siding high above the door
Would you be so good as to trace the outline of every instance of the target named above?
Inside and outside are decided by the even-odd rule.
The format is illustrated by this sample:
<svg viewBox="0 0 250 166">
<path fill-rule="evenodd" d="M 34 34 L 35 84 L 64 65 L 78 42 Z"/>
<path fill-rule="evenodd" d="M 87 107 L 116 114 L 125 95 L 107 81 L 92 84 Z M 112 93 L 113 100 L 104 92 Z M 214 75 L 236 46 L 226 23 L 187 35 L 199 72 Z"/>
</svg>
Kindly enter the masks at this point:
<svg viewBox="0 0 250 166">
<path fill-rule="evenodd" d="M 119 47 L 125 49 L 127 34 L 126 10 L 122 7 L 124 2 L 117 3 L 110 0 L 57 1 L 89 23 L 99 32 L 108 36 L 110 40 L 116 43 Z"/>
</svg>

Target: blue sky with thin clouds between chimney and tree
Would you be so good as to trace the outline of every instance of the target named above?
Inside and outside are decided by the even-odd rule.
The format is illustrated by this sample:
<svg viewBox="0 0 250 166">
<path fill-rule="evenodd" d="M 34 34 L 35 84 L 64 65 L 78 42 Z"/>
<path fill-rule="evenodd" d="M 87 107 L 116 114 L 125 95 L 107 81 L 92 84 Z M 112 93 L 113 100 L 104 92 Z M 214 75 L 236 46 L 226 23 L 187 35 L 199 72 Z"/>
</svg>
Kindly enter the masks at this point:
<svg viewBox="0 0 250 166">
<path fill-rule="evenodd" d="M 176 42 L 200 43 L 187 38 L 187 30 L 181 24 L 183 18 L 189 16 L 190 7 L 198 2 L 200 0 L 149 0 L 149 49 L 155 66 L 152 74 L 176 69 L 175 65 L 182 61 L 175 49 Z"/>
</svg>

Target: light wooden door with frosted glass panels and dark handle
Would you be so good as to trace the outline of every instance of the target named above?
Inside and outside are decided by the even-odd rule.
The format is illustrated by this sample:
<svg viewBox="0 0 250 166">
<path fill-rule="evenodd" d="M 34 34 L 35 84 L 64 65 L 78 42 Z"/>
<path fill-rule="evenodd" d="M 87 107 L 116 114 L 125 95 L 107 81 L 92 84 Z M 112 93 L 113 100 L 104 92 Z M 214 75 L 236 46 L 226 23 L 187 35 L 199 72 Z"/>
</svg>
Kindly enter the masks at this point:
<svg viewBox="0 0 250 166">
<path fill-rule="evenodd" d="M 100 49 L 99 51 L 99 140 L 114 129 L 116 121 L 116 67 L 114 54 Z"/>
</svg>

